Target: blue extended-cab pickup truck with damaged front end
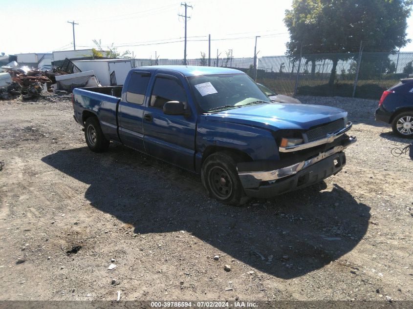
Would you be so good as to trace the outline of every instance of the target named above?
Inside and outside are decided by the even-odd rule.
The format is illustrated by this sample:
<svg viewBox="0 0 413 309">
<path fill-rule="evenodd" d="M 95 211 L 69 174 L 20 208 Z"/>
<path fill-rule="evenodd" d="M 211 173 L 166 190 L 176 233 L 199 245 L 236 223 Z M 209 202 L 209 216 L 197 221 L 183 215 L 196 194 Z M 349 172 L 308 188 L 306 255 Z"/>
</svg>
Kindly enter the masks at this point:
<svg viewBox="0 0 413 309">
<path fill-rule="evenodd" d="M 74 89 L 73 109 L 90 150 L 124 144 L 200 174 L 211 197 L 236 206 L 336 174 L 356 141 L 346 111 L 272 103 L 229 68 L 134 68 L 123 87 Z"/>
</svg>

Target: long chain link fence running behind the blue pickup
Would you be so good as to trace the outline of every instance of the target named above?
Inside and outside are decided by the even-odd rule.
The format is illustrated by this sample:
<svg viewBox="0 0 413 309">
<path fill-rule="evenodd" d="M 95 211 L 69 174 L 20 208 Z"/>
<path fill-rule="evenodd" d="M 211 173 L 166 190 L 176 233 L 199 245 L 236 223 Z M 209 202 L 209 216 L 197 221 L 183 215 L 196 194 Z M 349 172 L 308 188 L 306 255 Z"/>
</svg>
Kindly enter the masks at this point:
<svg viewBox="0 0 413 309">
<path fill-rule="evenodd" d="M 257 82 L 286 95 L 379 99 L 384 90 L 413 74 L 413 52 L 311 54 L 257 59 Z M 182 65 L 182 59 L 135 59 L 135 66 Z M 208 65 L 188 59 L 188 65 Z M 254 58 L 211 58 L 211 66 L 231 67 L 254 78 Z M 335 74 L 333 68 L 335 67 Z"/>
</svg>

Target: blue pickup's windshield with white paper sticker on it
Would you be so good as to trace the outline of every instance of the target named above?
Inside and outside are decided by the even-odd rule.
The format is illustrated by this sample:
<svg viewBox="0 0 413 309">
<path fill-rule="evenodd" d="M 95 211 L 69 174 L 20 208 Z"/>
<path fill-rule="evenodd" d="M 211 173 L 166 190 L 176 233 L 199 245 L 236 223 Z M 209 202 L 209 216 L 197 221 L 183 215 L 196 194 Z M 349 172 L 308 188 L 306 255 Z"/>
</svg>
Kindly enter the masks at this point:
<svg viewBox="0 0 413 309">
<path fill-rule="evenodd" d="M 188 77 L 196 102 L 203 112 L 219 111 L 270 99 L 246 74 L 221 74 Z"/>
</svg>

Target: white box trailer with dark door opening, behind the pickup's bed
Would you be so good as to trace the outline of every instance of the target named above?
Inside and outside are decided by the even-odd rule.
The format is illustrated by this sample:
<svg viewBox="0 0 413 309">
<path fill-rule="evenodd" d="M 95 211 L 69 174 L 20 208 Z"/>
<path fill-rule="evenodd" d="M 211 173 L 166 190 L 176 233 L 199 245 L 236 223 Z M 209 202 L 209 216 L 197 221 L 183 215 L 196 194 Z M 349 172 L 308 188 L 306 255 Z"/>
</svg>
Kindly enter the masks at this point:
<svg viewBox="0 0 413 309">
<path fill-rule="evenodd" d="M 133 59 L 99 59 L 72 61 L 81 71 L 94 71 L 102 86 L 123 85 L 133 68 Z"/>
</svg>

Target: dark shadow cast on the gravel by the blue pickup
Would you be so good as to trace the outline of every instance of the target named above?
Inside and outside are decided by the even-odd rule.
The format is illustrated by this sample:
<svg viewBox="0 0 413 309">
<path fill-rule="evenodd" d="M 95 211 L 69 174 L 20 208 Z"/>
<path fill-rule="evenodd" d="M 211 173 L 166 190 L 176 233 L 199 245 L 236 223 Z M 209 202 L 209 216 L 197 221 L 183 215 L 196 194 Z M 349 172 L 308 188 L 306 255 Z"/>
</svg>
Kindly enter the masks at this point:
<svg viewBox="0 0 413 309">
<path fill-rule="evenodd" d="M 186 230 L 234 259 L 284 279 L 339 259 L 369 225 L 370 207 L 338 185 L 323 191 L 322 183 L 232 207 L 209 199 L 198 176 L 123 146 L 111 146 L 103 154 L 87 147 L 62 150 L 42 161 L 89 184 L 85 198 L 90 205 L 133 225 L 135 233 Z"/>
</svg>

